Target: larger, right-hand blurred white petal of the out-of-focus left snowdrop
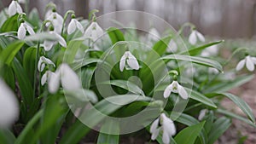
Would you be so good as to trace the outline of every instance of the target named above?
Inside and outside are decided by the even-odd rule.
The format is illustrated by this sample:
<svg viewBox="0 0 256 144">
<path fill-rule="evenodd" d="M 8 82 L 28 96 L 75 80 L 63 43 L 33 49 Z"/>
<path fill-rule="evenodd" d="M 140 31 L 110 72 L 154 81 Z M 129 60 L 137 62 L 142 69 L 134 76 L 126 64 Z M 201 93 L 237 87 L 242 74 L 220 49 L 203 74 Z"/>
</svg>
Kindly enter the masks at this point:
<svg viewBox="0 0 256 144">
<path fill-rule="evenodd" d="M 64 89 L 75 90 L 82 87 L 78 75 L 67 64 L 61 64 L 60 71 L 61 84 Z"/>
</svg>

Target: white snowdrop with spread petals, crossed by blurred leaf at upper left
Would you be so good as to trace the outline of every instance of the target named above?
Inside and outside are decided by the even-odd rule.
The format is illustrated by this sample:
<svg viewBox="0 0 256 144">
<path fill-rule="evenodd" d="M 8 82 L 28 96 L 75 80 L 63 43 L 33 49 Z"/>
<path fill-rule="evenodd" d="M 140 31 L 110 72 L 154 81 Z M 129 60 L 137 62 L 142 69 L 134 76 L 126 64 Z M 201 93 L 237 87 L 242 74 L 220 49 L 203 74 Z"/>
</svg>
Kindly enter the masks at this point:
<svg viewBox="0 0 256 144">
<path fill-rule="evenodd" d="M 61 37 L 61 35 L 59 35 L 56 32 L 50 31 L 50 34 L 54 35 L 57 38 L 57 41 L 44 41 L 44 50 L 45 51 L 49 51 L 50 49 L 52 49 L 52 47 L 55 45 L 55 43 L 60 43 L 62 47 L 67 48 L 67 43 L 65 41 L 65 39 L 63 37 Z"/>
</svg>

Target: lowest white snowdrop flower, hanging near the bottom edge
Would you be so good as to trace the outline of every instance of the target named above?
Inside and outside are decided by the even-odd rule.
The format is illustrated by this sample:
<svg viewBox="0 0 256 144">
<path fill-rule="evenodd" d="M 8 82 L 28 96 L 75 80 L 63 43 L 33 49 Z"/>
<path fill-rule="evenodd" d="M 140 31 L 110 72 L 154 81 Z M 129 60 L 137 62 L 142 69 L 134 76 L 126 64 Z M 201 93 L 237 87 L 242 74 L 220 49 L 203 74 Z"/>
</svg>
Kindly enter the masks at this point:
<svg viewBox="0 0 256 144">
<path fill-rule="evenodd" d="M 175 125 L 173 124 L 172 119 L 167 118 L 165 113 L 161 113 L 160 117 L 155 119 L 153 124 L 151 124 L 151 140 L 154 141 L 160 134 L 160 132 L 163 133 L 162 141 L 165 144 L 169 144 L 172 135 L 176 134 L 176 128 Z"/>
</svg>

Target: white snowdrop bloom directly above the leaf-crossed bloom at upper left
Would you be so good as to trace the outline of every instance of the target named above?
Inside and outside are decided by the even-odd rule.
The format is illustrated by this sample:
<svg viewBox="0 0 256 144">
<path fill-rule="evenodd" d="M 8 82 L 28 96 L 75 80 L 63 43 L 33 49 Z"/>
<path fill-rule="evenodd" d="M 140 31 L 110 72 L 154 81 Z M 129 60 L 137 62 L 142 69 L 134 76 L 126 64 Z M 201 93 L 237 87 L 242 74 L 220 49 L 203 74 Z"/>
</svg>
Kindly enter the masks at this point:
<svg viewBox="0 0 256 144">
<path fill-rule="evenodd" d="M 56 33 L 61 33 L 62 30 L 62 24 L 63 24 L 63 18 L 61 14 L 58 14 L 57 12 L 49 11 L 45 14 L 46 19 L 50 20 L 55 28 Z M 46 24 L 46 26 L 49 26 L 49 23 Z"/>
</svg>

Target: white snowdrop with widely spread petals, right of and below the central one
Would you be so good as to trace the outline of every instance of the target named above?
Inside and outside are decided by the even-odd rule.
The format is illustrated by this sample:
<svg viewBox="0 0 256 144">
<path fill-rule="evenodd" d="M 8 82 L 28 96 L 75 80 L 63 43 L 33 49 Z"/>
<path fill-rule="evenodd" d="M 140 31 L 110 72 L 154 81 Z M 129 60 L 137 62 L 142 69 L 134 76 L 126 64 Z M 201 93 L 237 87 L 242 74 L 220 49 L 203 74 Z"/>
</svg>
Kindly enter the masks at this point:
<svg viewBox="0 0 256 144">
<path fill-rule="evenodd" d="M 171 93 L 177 93 L 180 95 L 184 100 L 189 98 L 187 91 L 177 83 L 177 81 L 173 81 L 172 84 L 168 85 L 164 91 L 164 97 L 167 98 L 171 95 Z"/>
</svg>

